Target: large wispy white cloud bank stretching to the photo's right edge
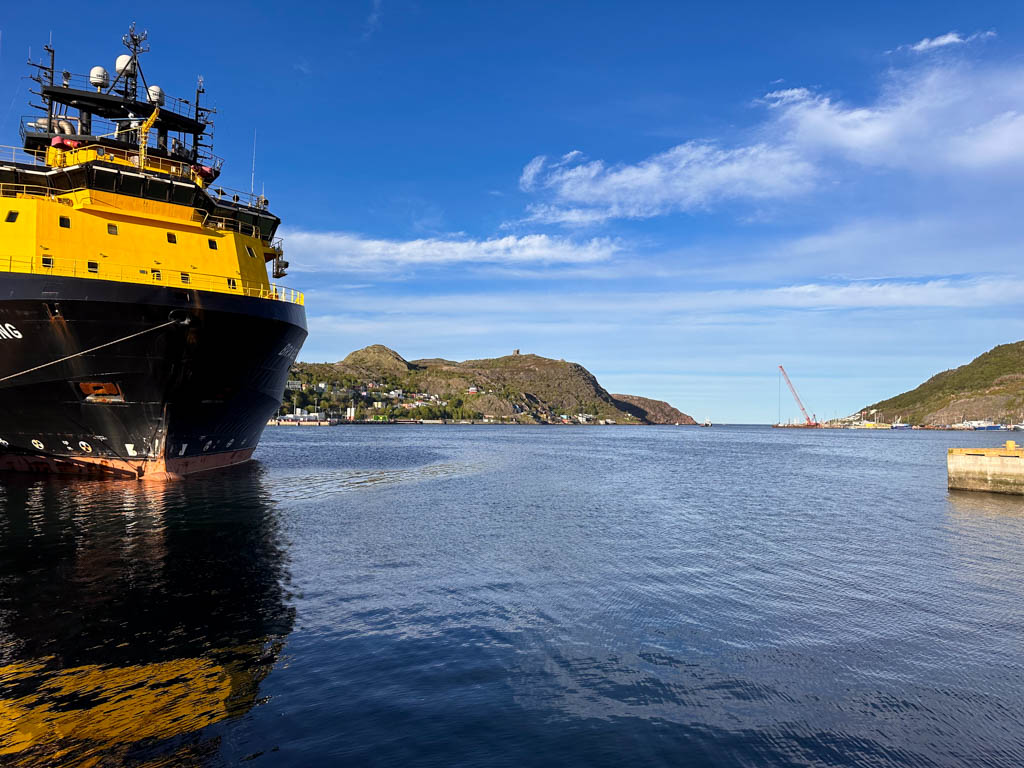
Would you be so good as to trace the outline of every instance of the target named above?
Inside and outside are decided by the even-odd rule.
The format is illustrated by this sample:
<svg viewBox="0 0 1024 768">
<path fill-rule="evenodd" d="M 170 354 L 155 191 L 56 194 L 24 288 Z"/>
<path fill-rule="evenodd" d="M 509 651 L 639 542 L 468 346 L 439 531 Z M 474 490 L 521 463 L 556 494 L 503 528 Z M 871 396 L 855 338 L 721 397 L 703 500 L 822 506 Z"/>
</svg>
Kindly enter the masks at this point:
<svg viewBox="0 0 1024 768">
<path fill-rule="evenodd" d="M 806 87 L 759 101 L 767 114 L 749 143 L 687 141 L 635 163 L 583 162 L 579 151 L 557 163 L 535 158 L 520 176 L 538 198 L 525 220 L 580 226 L 781 201 L 856 178 L 849 163 L 920 175 L 1006 174 L 1024 165 L 1020 65 L 893 71 L 866 104 Z"/>
</svg>

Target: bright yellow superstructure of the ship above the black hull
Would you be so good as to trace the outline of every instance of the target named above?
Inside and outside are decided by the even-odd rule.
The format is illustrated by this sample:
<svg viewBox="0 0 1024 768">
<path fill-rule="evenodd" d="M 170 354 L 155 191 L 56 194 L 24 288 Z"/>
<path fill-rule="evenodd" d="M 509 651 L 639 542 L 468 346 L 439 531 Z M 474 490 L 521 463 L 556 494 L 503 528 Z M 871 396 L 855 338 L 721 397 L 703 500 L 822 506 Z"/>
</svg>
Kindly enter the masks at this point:
<svg viewBox="0 0 1024 768">
<path fill-rule="evenodd" d="M 94 160 L 126 171 L 135 168 L 128 154 L 101 146 L 49 147 L 40 175 L 46 167 L 69 169 Z M 171 191 L 174 184 L 202 186 L 186 164 L 152 156 L 142 162 L 146 183 L 157 179 Z M 143 174 L 138 175 L 141 183 Z M 170 193 L 168 198 L 173 199 Z M 191 206 L 96 188 L 60 191 L 43 184 L 0 183 L 0 271 L 186 287 L 301 304 L 301 293 L 267 278 L 266 263 L 281 254 L 280 242 L 268 245 L 255 225 Z"/>
</svg>

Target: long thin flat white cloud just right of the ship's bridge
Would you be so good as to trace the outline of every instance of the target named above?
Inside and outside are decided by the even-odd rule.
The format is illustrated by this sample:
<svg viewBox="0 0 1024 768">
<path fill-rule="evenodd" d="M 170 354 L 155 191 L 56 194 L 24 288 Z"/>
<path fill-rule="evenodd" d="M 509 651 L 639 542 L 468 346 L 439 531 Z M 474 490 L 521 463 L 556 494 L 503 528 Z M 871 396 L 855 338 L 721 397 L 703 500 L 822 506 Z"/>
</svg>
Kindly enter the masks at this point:
<svg viewBox="0 0 1024 768">
<path fill-rule="evenodd" d="M 439 264 L 588 263 L 621 250 L 608 238 L 577 242 L 549 234 L 472 240 L 422 238 L 384 240 L 352 232 L 283 232 L 292 270 L 379 271 Z"/>
</svg>

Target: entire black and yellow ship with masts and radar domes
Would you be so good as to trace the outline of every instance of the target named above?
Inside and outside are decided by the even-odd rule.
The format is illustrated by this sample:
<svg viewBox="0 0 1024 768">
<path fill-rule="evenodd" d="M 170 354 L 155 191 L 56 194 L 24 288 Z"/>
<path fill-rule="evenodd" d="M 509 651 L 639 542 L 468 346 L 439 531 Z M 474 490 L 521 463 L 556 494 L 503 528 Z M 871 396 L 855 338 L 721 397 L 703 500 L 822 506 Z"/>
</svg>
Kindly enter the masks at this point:
<svg viewBox="0 0 1024 768">
<path fill-rule="evenodd" d="M 38 113 L 0 154 L 0 470 L 248 461 L 306 338 L 281 219 L 218 185 L 203 80 L 150 84 L 146 38 L 132 25 L 112 73 L 29 62 Z"/>
</svg>

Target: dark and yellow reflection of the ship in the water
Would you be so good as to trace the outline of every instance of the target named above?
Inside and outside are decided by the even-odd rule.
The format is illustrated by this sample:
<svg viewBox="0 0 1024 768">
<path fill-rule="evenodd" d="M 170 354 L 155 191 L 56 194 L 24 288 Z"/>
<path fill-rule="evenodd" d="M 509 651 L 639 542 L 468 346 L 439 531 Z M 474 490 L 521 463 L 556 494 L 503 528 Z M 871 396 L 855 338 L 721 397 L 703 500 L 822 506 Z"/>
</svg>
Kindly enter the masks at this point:
<svg viewBox="0 0 1024 768">
<path fill-rule="evenodd" d="M 176 765 L 217 751 L 200 730 L 253 707 L 293 626 L 260 472 L 5 478 L 0 764 Z"/>
</svg>

